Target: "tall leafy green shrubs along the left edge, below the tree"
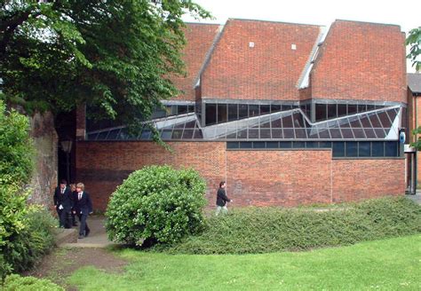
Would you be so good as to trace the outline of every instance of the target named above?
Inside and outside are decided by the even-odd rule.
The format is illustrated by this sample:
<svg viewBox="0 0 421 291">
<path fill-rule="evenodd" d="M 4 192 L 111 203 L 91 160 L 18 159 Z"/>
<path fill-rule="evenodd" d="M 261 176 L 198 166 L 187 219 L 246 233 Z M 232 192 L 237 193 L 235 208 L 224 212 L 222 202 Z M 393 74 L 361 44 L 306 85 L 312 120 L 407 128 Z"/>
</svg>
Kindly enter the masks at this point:
<svg viewBox="0 0 421 291">
<path fill-rule="evenodd" d="M 5 112 L 0 100 L 0 279 L 27 270 L 54 242 L 52 216 L 29 208 L 28 192 L 21 190 L 33 169 L 28 130 L 28 118 Z"/>
</svg>

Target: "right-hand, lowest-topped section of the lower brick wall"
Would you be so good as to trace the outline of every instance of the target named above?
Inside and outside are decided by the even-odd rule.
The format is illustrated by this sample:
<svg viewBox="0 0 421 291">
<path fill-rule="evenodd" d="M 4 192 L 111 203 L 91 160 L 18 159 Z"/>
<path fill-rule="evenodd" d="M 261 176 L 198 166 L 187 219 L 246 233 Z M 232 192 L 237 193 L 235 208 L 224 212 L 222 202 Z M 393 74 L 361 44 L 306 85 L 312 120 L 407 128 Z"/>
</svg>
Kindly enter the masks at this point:
<svg viewBox="0 0 421 291">
<path fill-rule="evenodd" d="M 405 160 L 333 160 L 333 202 L 405 192 Z"/>
</svg>

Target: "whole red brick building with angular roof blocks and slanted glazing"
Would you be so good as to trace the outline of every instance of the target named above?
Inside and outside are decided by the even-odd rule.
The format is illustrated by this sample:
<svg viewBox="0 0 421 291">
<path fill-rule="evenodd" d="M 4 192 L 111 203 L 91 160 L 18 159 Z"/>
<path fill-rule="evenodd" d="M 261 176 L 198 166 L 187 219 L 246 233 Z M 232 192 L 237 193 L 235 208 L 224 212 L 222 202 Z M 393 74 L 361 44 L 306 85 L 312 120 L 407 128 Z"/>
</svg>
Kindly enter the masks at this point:
<svg viewBox="0 0 421 291">
<path fill-rule="evenodd" d="M 337 20 L 330 28 L 259 20 L 187 24 L 183 90 L 144 127 L 90 129 L 78 111 L 76 176 L 96 208 L 131 171 L 193 167 L 213 207 L 226 180 L 236 206 L 358 201 L 405 191 L 405 35 Z M 86 124 L 88 126 L 86 127 Z"/>
</svg>

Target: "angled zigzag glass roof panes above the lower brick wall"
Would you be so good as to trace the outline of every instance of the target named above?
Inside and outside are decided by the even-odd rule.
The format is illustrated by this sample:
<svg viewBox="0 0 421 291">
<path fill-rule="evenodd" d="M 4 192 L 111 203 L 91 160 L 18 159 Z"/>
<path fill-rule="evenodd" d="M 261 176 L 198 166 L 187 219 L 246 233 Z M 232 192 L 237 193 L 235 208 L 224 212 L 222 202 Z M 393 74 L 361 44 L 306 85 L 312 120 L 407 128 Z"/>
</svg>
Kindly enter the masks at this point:
<svg viewBox="0 0 421 291">
<path fill-rule="evenodd" d="M 129 134 L 126 127 L 88 132 L 88 140 L 148 140 L 150 126 L 163 140 L 397 140 L 402 106 L 386 106 L 323 122 L 310 122 L 300 108 L 201 127 L 195 113 L 143 122 Z"/>
</svg>

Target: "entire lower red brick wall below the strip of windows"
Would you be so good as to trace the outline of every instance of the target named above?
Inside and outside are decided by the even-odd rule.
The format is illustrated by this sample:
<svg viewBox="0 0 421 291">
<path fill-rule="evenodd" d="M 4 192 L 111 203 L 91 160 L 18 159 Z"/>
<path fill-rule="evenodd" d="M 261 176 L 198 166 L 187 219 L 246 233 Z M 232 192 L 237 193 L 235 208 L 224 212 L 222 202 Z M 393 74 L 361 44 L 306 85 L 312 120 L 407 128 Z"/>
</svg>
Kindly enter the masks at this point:
<svg viewBox="0 0 421 291">
<path fill-rule="evenodd" d="M 86 185 L 94 208 L 131 171 L 151 164 L 193 167 L 206 179 L 213 208 L 221 180 L 232 207 L 354 201 L 404 193 L 404 160 L 332 160 L 331 152 L 226 151 L 225 142 L 172 142 L 172 153 L 152 142 L 78 142 L 77 181 Z"/>
</svg>

